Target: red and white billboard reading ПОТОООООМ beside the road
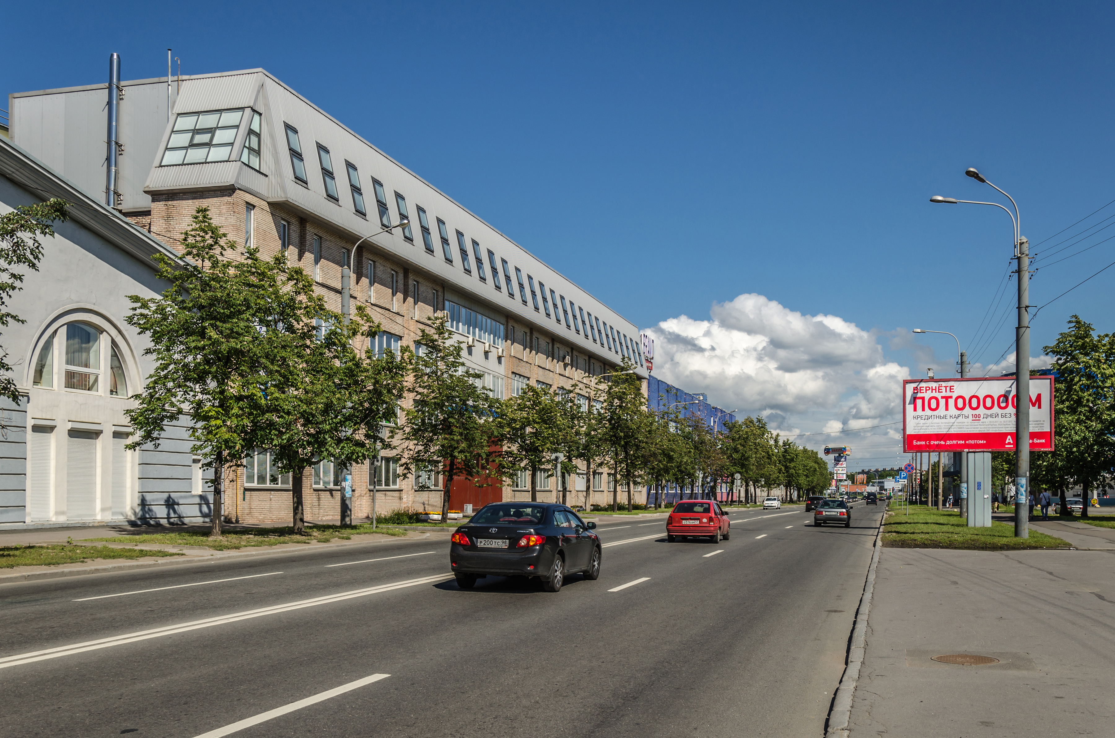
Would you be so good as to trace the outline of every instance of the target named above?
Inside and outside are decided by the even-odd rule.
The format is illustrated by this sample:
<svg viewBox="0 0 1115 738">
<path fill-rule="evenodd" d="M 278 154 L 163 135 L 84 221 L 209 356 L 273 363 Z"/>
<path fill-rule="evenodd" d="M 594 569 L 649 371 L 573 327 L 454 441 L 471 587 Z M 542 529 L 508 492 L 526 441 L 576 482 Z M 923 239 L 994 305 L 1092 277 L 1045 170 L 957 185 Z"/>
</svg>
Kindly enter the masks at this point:
<svg viewBox="0 0 1115 738">
<path fill-rule="evenodd" d="M 1030 377 L 1030 450 L 1053 450 L 1053 377 Z M 902 449 L 1015 450 L 1014 377 L 906 379 Z"/>
</svg>

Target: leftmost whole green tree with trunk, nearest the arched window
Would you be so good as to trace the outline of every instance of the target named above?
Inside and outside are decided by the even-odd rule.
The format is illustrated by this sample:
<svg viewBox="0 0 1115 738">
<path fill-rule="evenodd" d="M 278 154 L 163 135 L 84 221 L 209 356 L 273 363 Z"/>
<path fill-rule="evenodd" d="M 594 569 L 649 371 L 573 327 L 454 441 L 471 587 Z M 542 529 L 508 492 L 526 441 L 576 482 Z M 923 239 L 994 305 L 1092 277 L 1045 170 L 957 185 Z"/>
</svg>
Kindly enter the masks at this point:
<svg viewBox="0 0 1115 738">
<path fill-rule="evenodd" d="M 128 295 L 126 318 L 148 337 L 144 355 L 155 363 L 126 411 L 134 431 L 128 447 L 158 448 L 167 424 L 190 423 L 193 453 L 213 469 L 214 536 L 221 535 L 225 466 L 272 436 L 268 387 L 290 357 L 277 343 L 283 331 L 268 327 L 292 320 L 285 293 L 304 290 L 301 270 L 288 269 L 281 255 L 263 260 L 250 247 L 242 260 L 225 259 L 236 251 L 209 208 L 198 207 L 182 234 L 186 261 L 155 254 L 168 287 L 158 298 Z"/>
</svg>

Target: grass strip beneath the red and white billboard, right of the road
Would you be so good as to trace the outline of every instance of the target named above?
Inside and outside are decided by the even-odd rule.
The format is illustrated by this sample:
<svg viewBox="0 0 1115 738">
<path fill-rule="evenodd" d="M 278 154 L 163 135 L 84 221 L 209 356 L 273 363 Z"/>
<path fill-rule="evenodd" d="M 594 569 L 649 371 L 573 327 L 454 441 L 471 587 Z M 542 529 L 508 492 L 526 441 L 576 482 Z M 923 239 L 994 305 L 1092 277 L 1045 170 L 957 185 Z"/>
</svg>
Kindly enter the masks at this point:
<svg viewBox="0 0 1115 738">
<path fill-rule="evenodd" d="M 1025 548 L 1070 548 L 1067 541 L 1030 531 L 1016 538 L 1015 526 L 992 522 L 991 527 L 968 527 L 959 511 L 938 511 L 925 505 L 895 507 L 883 525 L 883 545 L 889 548 L 958 548 L 966 551 L 1021 551 Z"/>
</svg>

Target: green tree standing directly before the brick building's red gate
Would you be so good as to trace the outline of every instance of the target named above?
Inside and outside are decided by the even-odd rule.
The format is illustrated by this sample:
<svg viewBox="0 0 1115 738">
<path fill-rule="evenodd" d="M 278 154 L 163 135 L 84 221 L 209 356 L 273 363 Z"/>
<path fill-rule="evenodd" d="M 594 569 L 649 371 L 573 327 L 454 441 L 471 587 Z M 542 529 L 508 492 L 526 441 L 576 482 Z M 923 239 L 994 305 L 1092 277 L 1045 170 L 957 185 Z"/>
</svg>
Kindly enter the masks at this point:
<svg viewBox="0 0 1115 738">
<path fill-rule="evenodd" d="M 463 343 L 446 321 L 444 314 L 435 317 L 434 330 L 421 330 L 417 350 L 403 348 L 410 405 L 394 434 L 401 443 L 399 472 L 404 476 L 414 476 L 430 462 L 444 465 L 443 521 L 449 516 L 454 479 L 487 476 L 500 462 L 500 401 L 479 385 L 483 375 L 465 366 Z"/>
</svg>

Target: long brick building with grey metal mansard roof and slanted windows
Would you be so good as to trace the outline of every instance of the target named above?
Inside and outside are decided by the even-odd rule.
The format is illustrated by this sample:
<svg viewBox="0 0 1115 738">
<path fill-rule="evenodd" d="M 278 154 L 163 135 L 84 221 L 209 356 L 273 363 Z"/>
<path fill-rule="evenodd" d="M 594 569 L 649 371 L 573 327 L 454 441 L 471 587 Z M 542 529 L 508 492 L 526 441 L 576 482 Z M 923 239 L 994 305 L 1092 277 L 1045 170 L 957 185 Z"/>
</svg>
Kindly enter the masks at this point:
<svg viewBox="0 0 1115 738">
<path fill-rule="evenodd" d="M 106 95 L 118 115 L 112 185 Z M 444 311 L 496 397 L 534 383 L 588 402 L 591 377 L 624 359 L 649 377 L 636 326 L 262 69 L 20 93 L 9 109 L 14 143 L 172 249 L 205 205 L 236 242 L 303 266 L 333 310 L 350 266 L 351 299 L 382 324 L 382 348 L 413 346 Z M 401 219 L 409 225 L 384 231 Z M 308 517 L 337 517 L 341 474 L 329 460 L 307 472 Z M 372 475 L 379 509 L 440 499 L 438 478 L 399 478 L 394 457 L 351 474 L 358 518 L 370 511 Z M 526 496 L 525 476 L 503 489 L 455 483 L 450 506 Z M 289 519 L 290 479 L 273 473 L 266 449 L 234 482 L 230 516 Z M 554 498 L 559 480 L 542 482 Z M 607 494 L 603 475 L 564 484 L 581 495 L 599 486 L 600 502 Z"/>
</svg>

